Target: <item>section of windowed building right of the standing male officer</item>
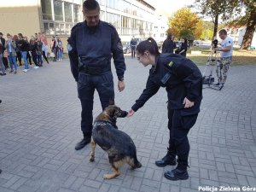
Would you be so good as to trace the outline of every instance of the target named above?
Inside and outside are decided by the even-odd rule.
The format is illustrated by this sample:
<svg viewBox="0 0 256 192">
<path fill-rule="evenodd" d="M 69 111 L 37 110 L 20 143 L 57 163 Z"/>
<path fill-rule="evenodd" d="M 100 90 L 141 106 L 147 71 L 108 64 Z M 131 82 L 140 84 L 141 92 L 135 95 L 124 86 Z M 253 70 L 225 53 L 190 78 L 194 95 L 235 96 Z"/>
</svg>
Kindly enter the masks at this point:
<svg viewBox="0 0 256 192">
<path fill-rule="evenodd" d="M 152 36 L 154 7 L 140 0 L 99 0 L 101 20 L 116 27 L 122 41 Z"/>
</svg>

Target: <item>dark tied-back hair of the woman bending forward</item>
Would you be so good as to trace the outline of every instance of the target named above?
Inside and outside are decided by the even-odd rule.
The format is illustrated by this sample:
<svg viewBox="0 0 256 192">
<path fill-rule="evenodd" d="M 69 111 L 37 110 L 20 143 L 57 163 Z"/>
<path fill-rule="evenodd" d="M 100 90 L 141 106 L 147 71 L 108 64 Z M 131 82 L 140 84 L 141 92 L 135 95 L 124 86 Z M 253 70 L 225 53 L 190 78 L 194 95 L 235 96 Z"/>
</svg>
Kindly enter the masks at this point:
<svg viewBox="0 0 256 192">
<path fill-rule="evenodd" d="M 160 55 L 158 46 L 154 41 L 154 38 L 148 38 L 137 45 L 137 52 L 143 54 L 146 50 L 152 55 Z"/>
</svg>

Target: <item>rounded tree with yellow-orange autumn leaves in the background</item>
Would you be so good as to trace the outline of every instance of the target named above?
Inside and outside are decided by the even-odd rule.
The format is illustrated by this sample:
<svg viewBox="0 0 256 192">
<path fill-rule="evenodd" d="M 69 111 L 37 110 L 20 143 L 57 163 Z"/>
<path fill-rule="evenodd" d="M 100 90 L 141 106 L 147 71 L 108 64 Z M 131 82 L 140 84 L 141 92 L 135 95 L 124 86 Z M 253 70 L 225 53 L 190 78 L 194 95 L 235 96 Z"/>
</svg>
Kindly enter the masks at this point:
<svg viewBox="0 0 256 192">
<path fill-rule="evenodd" d="M 191 9 L 183 8 L 177 10 L 169 18 L 168 33 L 175 34 L 177 38 L 197 39 L 201 37 L 203 22 L 201 18 L 192 13 Z"/>
</svg>

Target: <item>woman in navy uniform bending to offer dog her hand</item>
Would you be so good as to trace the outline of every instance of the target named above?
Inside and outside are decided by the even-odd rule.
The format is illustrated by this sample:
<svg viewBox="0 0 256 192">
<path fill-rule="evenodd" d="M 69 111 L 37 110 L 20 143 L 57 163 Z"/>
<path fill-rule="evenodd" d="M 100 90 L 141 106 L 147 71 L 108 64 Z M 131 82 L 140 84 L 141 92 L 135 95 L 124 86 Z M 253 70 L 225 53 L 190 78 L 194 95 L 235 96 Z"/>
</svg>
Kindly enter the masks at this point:
<svg viewBox="0 0 256 192">
<path fill-rule="evenodd" d="M 131 117 L 160 87 L 166 87 L 168 96 L 168 129 L 170 131 L 169 148 L 156 166 L 176 166 L 165 177 L 171 180 L 189 178 L 187 172 L 189 159 L 188 133 L 195 125 L 202 99 L 202 75 L 195 63 L 182 55 L 161 54 L 154 38 L 148 38 L 137 45 L 137 60 L 144 67 L 152 65 L 148 81 L 142 95 L 131 107 Z M 177 156 L 177 160 L 176 160 Z"/>
</svg>

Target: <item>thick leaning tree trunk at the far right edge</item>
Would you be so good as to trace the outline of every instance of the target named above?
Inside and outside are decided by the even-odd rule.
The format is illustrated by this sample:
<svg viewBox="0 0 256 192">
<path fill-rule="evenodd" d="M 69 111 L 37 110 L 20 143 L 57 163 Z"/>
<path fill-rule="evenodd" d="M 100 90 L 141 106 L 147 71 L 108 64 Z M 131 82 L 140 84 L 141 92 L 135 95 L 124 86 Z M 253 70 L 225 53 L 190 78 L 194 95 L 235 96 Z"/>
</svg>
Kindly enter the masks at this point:
<svg viewBox="0 0 256 192">
<path fill-rule="evenodd" d="M 248 49 L 253 41 L 253 34 L 256 26 L 256 8 L 251 9 L 250 17 L 247 21 L 247 30 L 241 43 L 241 49 Z"/>
</svg>

